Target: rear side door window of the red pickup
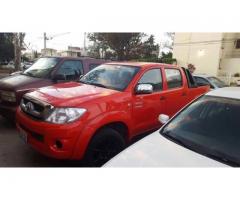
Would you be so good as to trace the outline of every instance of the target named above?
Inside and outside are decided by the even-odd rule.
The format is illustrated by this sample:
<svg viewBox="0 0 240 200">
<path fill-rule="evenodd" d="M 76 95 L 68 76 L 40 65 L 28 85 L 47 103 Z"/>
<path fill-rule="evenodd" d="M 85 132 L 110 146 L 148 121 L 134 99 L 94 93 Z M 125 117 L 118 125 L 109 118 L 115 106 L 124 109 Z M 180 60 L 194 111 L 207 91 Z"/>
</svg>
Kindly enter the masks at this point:
<svg viewBox="0 0 240 200">
<path fill-rule="evenodd" d="M 178 69 L 165 69 L 168 88 L 178 88 L 182 86 L 182 75 Z"/>
</svg>

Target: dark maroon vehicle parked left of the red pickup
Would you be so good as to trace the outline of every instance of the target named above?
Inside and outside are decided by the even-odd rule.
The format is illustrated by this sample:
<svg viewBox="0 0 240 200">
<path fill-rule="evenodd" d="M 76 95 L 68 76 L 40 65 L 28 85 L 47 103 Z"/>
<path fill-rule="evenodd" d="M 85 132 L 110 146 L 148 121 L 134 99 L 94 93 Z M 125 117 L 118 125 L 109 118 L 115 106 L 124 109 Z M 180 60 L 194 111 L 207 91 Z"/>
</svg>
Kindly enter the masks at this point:
<svg viewBox="0 0 240 200">
<path fill-rule="evenodd" d="M 14 119 L 23 94 L 57 82 L 78 80 L 90 70 L 92 64 L 100 65 L 104 62 L 106 61 L 88 57 L 38 59 L 24 72 L 0 79 L 0 115 Z"/>
</svg>

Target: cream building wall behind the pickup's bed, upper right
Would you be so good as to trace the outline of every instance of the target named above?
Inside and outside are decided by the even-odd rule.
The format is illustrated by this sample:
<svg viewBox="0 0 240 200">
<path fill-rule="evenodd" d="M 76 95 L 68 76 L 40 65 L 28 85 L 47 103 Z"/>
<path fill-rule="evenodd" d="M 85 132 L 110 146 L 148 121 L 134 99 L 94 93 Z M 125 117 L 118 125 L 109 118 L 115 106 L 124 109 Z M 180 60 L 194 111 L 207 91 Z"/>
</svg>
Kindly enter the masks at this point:
<svg viewBox="0 0 240 200">
<path fill-rule="evenodd" d="M 173 57 L 180 66 L 194 64 L 195 73 L 216 76 L 222 53 L 222 38 L 222 33 L 176 33 Z"/>
</svg>

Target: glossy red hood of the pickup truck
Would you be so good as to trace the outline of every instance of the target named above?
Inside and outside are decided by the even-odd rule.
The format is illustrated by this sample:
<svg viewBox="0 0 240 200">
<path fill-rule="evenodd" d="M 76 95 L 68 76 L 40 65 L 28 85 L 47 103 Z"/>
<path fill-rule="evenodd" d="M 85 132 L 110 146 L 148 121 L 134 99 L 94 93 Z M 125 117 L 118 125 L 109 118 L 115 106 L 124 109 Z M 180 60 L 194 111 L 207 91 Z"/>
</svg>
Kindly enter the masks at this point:
<svg viewBox="0 0 240 200">
<path fill-rule="evenodd" d="M 77 82 L 61 83 L 40 88 L 29 95 L 53 106 L 78 106 L 84 102 L 109 96 L 119 91 Z"/>
</svg>

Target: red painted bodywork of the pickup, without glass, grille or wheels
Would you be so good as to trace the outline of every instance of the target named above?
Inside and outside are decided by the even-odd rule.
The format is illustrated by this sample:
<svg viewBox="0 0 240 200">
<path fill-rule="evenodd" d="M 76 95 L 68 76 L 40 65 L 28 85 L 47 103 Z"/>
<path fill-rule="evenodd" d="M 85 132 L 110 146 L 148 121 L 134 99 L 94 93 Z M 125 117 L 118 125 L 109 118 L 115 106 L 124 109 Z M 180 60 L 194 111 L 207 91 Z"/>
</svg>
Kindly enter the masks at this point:
<svg viewBox="0 0 240 200">
<path fill-rule="evenodd" d="M 112 63 L 111 63 L 112 64 Z M 119 63 L 115 63 L 119 64 Z M 124 63 L 120 63 L 124 65 Z M 32 119 L 17 110 L 17 127 L 28 133 L 28 143 L 37 151 L 58 159 L 82 159 L 87 146 L 97 131 L 112 123 L 121 123 L 127 128 L 126 140 L 147 131 L 159 128 L 158 115 L 172 116 L 191 100 L 209 90 L 208 86 L 189 88 L 181 68 L 159 63 L 126 63 L 140 66 L 140 71 L 124 91 L 116 91 L 77 82 L 56 84 L 27 94 L 33 99 L 47 102 L 54 107 L 79 107 L 87 112 L 77 121 L 59 125 Z M 134 89 L 142 75 L 150 69 L 162 72 L 163 90 L 152 94 L 135 95 Z M 176 89 L 168 89 L 164 68 L 181 71 L 183 84 Z M 44 137 L 37 141 L 34 134 Z M 63 148 L 56 147 L 56 141 Z"/>
</svg>

